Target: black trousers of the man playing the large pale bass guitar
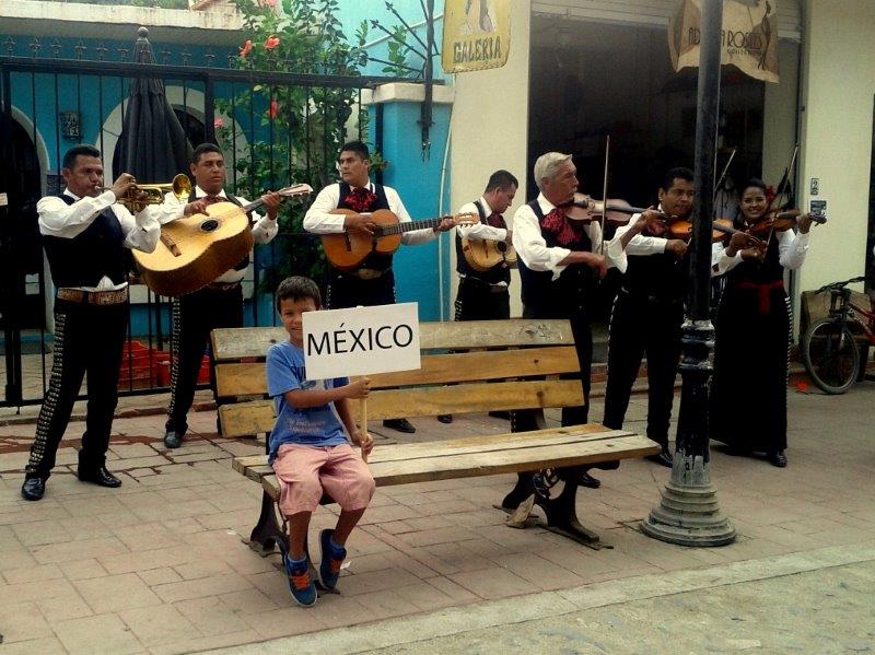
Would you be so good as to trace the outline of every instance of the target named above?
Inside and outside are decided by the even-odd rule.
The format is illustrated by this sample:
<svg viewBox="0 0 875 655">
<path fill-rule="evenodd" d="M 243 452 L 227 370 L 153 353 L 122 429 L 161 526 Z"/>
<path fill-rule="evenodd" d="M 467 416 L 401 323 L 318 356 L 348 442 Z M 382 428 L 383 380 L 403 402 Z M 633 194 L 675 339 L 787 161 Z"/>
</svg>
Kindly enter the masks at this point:
<svg viewBox="0 0 875 655">
<path fill-rule="evenodd" d="M 173 300 L 173 363 L 167 430 L 185 432 L 195 400 L 200 363 L 210 342 L 210 330 L 243 326 L 243 289 L 205 288 Z M 210 350 L 210 386 L 215 394 L 215 369 Z"/>
</svg>

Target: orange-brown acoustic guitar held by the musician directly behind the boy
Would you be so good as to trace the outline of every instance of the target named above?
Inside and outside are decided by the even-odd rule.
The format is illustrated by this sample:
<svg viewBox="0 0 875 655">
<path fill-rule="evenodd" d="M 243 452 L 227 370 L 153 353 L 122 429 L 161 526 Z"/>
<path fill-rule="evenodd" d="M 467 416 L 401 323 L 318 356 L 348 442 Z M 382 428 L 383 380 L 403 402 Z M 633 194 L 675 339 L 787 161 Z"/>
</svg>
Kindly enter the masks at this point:
<svg viewBox="0 0 875 655">
<path fill-rule="evenodd" d="M 330 213 L 353 214 L 357 212 L 351 209 L 335 209 Z M 372 253 L 394 254 L 400 247 L 401 234 L 405 232 L 433 229 L 440 225 L 444 219 L 453 219 L 456 225 L 474 225 L 480 222 L 480 218 L 476 213 L 464 213 L 401 223 L 398 217 L 388 209 L 377 209 L 370 217 L 376 223 L 373 235 L 363 232 L 337 232 L 320 235 L 322 247 L 331 266 L 340 270 L 355 270 Z"/>
</svg>

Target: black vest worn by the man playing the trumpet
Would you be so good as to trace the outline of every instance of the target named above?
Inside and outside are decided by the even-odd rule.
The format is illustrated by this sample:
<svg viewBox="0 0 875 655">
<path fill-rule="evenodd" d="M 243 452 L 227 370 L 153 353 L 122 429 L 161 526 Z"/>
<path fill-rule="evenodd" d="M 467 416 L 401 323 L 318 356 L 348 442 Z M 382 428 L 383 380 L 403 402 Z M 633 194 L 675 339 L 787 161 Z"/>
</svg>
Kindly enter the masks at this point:
<svg viewBox="0 0 875 655">
<path fill-rule="evenodd" d="M 58 196 L 67 204 L 75 200 Z M 43 235 L 51 281 L 55 286 L 96 286 L 104 277 L 114 284 L 127 279 L 128 249 L 125 232 L 112 207 L 104 209 L 91 225 L 73 238 Z"/>
</svg>

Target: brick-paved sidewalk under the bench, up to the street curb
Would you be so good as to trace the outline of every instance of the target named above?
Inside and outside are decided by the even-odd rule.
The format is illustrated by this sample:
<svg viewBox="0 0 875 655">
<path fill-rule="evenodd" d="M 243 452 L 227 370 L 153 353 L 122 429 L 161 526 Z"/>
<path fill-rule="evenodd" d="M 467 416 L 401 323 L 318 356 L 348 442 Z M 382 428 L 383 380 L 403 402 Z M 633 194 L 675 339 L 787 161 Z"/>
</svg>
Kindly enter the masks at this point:
<svg viewBox="0 0 875 655">
<path fill-rule="evenodd" d="M 738 411 L 757 420 L 756 407 Z M 2 654 L 185 653 L 347 627 L 536 592 L 580 587 L 875 539 L 875 385 L 845 396 L 790 394 L 790 467 L 714 452 L 723 510 L 739 533 L 720 549 L 680 548 L 641 535 L 668 470 L 623 463 L 583 490 L 579 514 L 612 550 L 593 551 L 540 528 L 514 530 L 491 508 L 512 477 L 378 490 L 350 541 L 339 595 L 294 607 L 277 569 L 243 542 L 259 488 L 231 471 L 250 441 L 219 438 L 214 412 L 191 416 L 192 434 L 164 449 L 163 417 L 117 419 L 109 467 L 125 484 L 80 483 L 81 423 L 71 423 L 46 498 L 19 496 L 33 425 L 0 428 L 0 633 Z M 643 431 L 645 398 L 629 428 Z M 599 418 L 596 405 L 593 418 Z M 413 421 L 417 440 L 508 430 L 504 421 Z M 372 426 L 376 428 L 376 426 Z M 400 437 L 380 434 L 377 444 Z M 378 447 L 378 446 L 377 446 Z M 334 521 L 314 517 L 313 534 Z M 316 549 L 314 549 L 314 552 Z"/>
</svg>

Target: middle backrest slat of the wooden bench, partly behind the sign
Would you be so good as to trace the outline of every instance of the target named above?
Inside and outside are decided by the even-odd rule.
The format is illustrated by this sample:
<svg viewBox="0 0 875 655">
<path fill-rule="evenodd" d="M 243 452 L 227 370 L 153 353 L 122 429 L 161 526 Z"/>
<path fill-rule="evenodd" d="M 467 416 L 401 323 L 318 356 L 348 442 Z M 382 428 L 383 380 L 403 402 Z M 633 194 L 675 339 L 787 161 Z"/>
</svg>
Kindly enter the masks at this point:
<svg viewBox="0 0 875 655">
<path fill-rule="evenodd" d="M 572 346 L 457 352 L 425 355 L 419 371 L 372 375 L 371 388 L 532 377 L 578 371 L 578 352 Z M 215 384 L 220 398 L 264 396 L 267 394 L 265 364 L 219 364 L 215 367 Z"/>
</svg>

